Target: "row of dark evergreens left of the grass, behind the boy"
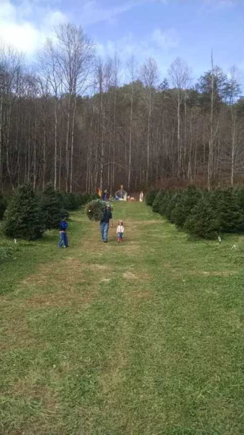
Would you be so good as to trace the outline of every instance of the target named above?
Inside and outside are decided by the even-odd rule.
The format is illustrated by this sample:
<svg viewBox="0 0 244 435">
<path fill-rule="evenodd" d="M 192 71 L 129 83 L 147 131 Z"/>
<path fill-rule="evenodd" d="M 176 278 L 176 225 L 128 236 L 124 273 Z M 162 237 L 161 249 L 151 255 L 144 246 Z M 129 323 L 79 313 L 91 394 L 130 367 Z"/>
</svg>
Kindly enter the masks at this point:
<svg viewBox="0 0 244 435">
<path fill-rule="evenodd" d="M 40 194 L 33 191 L 31 183 L 20 186 L 14 195 L 0 198 L 0 218 L 7 237 L 35 240 L 47 229 L 58 228 L 62 217 L 77 210 L 92 199 L 89 193 L 61 193 L 51 185 Z"/>
</svg>

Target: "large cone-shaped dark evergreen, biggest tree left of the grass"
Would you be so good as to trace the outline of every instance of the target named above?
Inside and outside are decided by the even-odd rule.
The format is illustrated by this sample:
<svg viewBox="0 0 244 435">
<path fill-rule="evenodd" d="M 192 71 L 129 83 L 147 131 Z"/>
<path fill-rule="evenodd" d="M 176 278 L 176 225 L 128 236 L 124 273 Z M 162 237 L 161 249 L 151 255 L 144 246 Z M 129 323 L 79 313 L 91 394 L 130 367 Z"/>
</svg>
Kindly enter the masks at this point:
<svg viewBox="0 0 244 435">
<path fill-rule="evenodd" d="M 44 232 L 38 198 L 30 183 L 16 190 L 4 216 L 3 231 L 8 237 L 35 240 Z"/>
</svg>

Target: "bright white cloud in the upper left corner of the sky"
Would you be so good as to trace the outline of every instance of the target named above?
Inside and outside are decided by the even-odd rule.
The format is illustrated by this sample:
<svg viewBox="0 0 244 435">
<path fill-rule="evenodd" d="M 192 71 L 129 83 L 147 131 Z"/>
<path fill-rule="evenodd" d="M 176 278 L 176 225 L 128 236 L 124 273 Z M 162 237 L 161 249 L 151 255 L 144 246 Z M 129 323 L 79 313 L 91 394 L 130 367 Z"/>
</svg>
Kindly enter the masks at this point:
<svg viewBox="0 0 244 435">
<path fill-rule="evenodd" d="M 55 25 L 67 20 L 50 1 L 0 0 L 0 37 L 7 44 L 31 55 L 51 36 Z"/>
</svg>

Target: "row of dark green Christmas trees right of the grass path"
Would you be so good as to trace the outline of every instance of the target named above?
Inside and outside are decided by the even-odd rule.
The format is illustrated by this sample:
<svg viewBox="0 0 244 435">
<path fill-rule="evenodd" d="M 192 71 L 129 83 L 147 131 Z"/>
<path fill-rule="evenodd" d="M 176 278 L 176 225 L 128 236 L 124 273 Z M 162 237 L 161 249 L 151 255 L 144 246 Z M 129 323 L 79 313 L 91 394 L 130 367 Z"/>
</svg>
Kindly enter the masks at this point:
<svg viewBox="0 0 244 435">
<path fill-rule="evenodd" d="M 178 228 L 204 239 L 244 230 L 244 187 L 152 190 L 146 203 Z"/>
</svg>

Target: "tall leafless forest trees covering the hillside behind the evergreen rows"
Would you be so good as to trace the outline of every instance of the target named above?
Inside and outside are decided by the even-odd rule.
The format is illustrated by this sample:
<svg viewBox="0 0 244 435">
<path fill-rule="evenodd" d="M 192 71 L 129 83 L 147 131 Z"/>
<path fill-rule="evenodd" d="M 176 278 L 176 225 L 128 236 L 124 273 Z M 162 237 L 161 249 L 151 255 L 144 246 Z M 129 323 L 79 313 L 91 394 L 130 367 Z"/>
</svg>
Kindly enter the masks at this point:
<svg viewBox="0 0 244 435">
<path fill-rule="evenodd" d="M 233 185 L 244 172 L 244 97 L 238 70 L 215 66 L 196 84 L 177 58 L 96 56 L 81 27 L 61 24 L 33 66 L 0 45 L 0 191 L 113 192 L 202 182 Z"/>
</svg>

